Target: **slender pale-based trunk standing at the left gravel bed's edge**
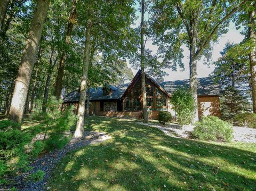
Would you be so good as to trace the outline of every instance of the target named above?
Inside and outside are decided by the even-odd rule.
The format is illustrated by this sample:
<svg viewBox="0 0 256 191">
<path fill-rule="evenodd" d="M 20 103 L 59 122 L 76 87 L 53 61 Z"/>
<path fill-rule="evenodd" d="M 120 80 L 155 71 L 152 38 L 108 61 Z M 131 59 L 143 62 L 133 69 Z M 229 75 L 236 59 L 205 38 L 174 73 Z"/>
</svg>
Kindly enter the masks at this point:
<svg viewBox="0 0 256 191">
<path fill-rule="evenodd" d="M 77 124 L 75 137 L 82 137 L 84 132 L 84 114 L 85 114 L 85 101 L 86 101 L 86 86 L 87 86 L 87 76 L 88 76 L 88 66 L 89 66 L 89 54 L 90 54 L 90 44 L 91 44 L 91 7 L 89 8 L 89 16 L 86 23 L 86 36 L 85 36 L 85 49 L 83 57 L 83 77 L 80 87 L 80 98 L 77 113 Z"/>
</svg>

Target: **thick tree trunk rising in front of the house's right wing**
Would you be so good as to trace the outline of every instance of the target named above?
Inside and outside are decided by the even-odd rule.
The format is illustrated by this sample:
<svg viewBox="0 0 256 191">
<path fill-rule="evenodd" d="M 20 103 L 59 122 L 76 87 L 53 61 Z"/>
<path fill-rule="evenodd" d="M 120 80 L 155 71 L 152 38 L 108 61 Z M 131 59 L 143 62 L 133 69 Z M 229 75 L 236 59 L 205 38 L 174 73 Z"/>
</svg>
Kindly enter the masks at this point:
<svg viewBox="0 0 256 191">
<path fill-rule="evenodd" d="M 194 119 L 198 121 L 198 103 L 197 103 L 197 56 L 196 56 L 196 38 L 197 38 L 197 23 L 193 23 L 190 39 L 190 54 L 189 54 L 189 88 L 190 93 L 194 98 Z"/>
</svg>

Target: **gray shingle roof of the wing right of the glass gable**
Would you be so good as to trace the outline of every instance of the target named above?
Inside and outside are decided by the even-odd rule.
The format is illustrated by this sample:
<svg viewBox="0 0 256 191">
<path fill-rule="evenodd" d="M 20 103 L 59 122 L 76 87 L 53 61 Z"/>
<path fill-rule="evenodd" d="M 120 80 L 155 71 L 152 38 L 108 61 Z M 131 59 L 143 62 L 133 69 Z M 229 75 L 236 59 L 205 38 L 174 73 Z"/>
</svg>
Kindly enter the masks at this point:
<svg viewBox="0 0 256 191">
<path fill-rule="evenodd" d="M 189 80 L 164 81 L 161 86 L 172 94 L 179 87 L 189 88 Z M 214 84 L 213 78 L 198 78 L 197 95 L 220 95 L 221 85 Z"/>
</svg>

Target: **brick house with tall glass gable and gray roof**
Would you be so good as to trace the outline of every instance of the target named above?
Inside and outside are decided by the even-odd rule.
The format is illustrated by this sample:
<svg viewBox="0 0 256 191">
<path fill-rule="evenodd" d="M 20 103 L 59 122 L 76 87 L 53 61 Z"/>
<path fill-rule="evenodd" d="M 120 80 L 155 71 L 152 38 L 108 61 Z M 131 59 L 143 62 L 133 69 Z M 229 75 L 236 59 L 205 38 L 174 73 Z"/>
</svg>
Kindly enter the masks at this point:
<svg viewBox="0 0 256 191">
<path fill-rule="evenodd" d="M 157 119 L 159 111 L 169 111 L 172 115 L 170 97 L 179 87 L 189 87 L 189 80 L 158 82 L 146 76 L 147 108 L 149 119 Z M 107 117 L 142 118 L 141 71 L 129 84 L 90 88 L 90 114 Z M 87 90 L 87 93 L 89 93 Z M 221 86 L 215 85 L 212 78 L 198 79 L 198 115 L 220 116 Z M 74 104 L 77 112 L 79 90 L 70 92 L 63 100 L 63 108 Z"/>
</svg>

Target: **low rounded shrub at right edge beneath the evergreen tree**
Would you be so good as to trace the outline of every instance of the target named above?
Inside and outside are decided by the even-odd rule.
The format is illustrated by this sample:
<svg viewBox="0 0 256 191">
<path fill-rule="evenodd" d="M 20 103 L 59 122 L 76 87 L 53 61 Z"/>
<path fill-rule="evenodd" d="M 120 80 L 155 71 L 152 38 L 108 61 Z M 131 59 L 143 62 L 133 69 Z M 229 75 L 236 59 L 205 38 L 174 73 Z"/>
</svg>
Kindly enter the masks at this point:
<svg viewBox="0 0 256 191">
<path fill-rule="evenodd" d="M 256 114 L 255 113 L 239 113 L 235 116 L 234 122 L 238 126 L 256 128 Z"/>
</svg>

